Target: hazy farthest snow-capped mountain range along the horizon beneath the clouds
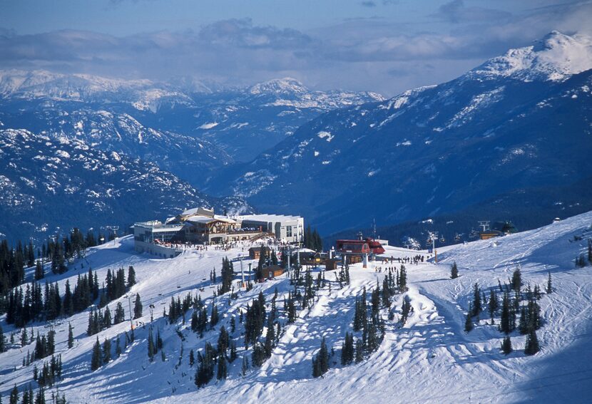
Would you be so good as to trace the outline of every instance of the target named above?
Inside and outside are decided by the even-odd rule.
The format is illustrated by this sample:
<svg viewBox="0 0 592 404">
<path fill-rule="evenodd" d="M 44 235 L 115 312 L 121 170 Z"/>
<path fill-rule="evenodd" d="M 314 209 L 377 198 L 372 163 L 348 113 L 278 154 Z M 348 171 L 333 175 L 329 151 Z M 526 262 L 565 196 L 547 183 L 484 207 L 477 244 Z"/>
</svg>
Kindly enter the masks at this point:
<svg viewBox="0 0 592 404">
<path fill-rule="evenodd" d="M 223 151 L 216 164 L 211 157 L 218 151 L 195 156 L 198 165 L 210 166 L 225 164 L 228 155 L 235 161 L 250 160 L 320 113 L 379 100 L 383 98 L 376 93 L 309 90 L 292 78 L 224 88 L 191 78 L 156 83 L 47 71 L 0 72 L 0 122 L 9 128 L 68 134 L 76 133 L 69 126 L 72 123 L 66 120 L 64 128 L 56 125 L 65 114 L 86 113 L 91 120 L 88 124 L 98 118 L 99 126 L 105 112 L 129 115 L 146 128 L 190 135 L 202 139 L 202 143 L 209 141 L 210 148 L 220 147 Z M 167 156 L 160 150 L 155 155 L 159 153 L 165 160 Z M 183 172 L 177 167 L 163 168 Z"/>
</svg>

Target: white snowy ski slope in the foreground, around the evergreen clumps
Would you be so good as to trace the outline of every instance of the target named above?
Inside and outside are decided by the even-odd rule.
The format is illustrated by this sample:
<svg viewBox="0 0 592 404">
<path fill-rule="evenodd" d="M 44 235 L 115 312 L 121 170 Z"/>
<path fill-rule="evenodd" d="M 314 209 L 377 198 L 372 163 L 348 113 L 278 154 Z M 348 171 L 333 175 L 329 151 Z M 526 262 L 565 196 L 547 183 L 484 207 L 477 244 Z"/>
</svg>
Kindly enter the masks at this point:
<svg viewBox="0 0 592 404">
<path fill-rule="evenodd" d="M 583 237 L 574 241 L 574 236 Z M 88 314 L 83 312 L 56 323 L 56 351 L 62 353 L 63 380 L 58 383 L 72 403 L 158 403 L 186 402 L 361 402 L 382 403 L 385 400 L 405 403 L 459 403 L 459 402 L 558 402 L 584 403 L 592 393 L 592 353 L 586 348 L 591 339 L 592 266 L 575 269 L 573 258 L 583 252 L 586 239 L 592 237 L 592 212 L 553 223 L 541 229 L 514 234 L 496 240 L 472 242 L 449 247 L 439 252 L 439 264 L 408 265 L 409 291 L 412 314 L 405 326 L 387 321 L 386 335 L 378 351 L 362 363 L 342 368 L 335 365 L 323 378 L 312 379 L 311 358 L 318 351 L 320 338 L 335 347 L 332 361 L 339 363 L 340 347 L 346 331 L 352 329 L 354 299 L 362 287 L 372 289 L 384 272 L 362 269 L 360 264 L 351 269 L 352 283 L 339 288 L 337 282 L 318 293 L 311 309 L 300 311 L 297 321 L 282 326 L 284 332 L 272 356 L 259 369 L 250 369 L 245 378 L 240 376 L 240 358 L 243 338 L 240 324 L 232 335 L 238 342 L 238 361 L 230 366 L 230 375 L 224 382 L 216 382 L 197 390 L 193 384 L 195 367 L 188 365 L 191 348 L 203 348 L 205 341 L 215 344 L 218 328 L 228 328 L 230 316 L 238 314 L 247 302 L 262 291 L 267 302 L 275 288 L 280 293 L 279 312 L 282 319 L 282 295 L 290 290 L 282 276 L 275 281 L 258 284 L 237 300 L 228 304 L 226 296 L 217 300 L 221 318 L 216 331 L 205 333 L 200 340 L 190 331 L 189 323 L 181 321 L 167 325 L 163 321 L 163 307 L 170 296 L 185 296 L 199 288 L 206 304 L 211 305 L 213 288 L 209 274 L 215 266 L 220 268 L 225 256 L 236 257 L 240 248 L 186 251 L 175 259 L 151 259 L 133 254 L 130 238 L 118 239 L 93 249 L 84 261 L 84 269 L 76 263 L 65 275 L 51 280 L 60 282 L 61 290 L 66 276 L 72 282 L 79 271 L 88 266 L 104 279 L 108 268 L 133 265 L 138 284 L 132 294 L 141 294 L 144 316 L 148 323 L 148 305 L 153 304 L 155 327 L 160 328 L 164 340 L 166 361 L 160 356 L 148 362 L 147 331 L 136 329 L 136 342 L 123 355 L 90 371 L 90 353 L 95 336 L 87 337 Z M 245 246 L 246 248 L 247 246 Z M 400 257 L 409 252 L 387 248 L 385 256 Z M 412 254 L 416 254 L 413 252 Z M 458 279 L 449 279 L 451 262 L 459 264 Z M 372 264 L 379 266 L 379 264 Z M 545 325 L 539 330 L 541 352 L 527 357 L 521 352 L 524 336 L 512 334 L 516 351 L 509 356 L 499 352 L 502 335 L 495 326 L 488 325 L 487 315 L 474 331 L 463 331 L 464 316 L 469 306 L 475 282 L 487 291 L 497 287 L 521 266 L 524 282 L 531 285 L 546 283 L 548 271 L 553 279 L 554 292 L 543 295 L 539 301 Z M 383 265 L 384 267 L 384 265 Z M 239 269 L 235 264 L 235 269 Z M 238 272 L 238 271 L 237 271 Z M 327 279 L 333 279 L 327 274 Z M 237 277 L 238 279 L 238 277 Z M 119 301 L 125 302 L 126 299 Z M 115 307 L 116 302 L 109 304 Z M 400 311 L 402 296 L 397 295 L 394 306 Z M 124 304 L 126 312 L 128 305 Z M 188 318 L 190 312 L 188 313 Z M 11 331 L 2 318 L 4 332 Z M 66 349 L 68 321 L 76 336 L 75 346 Z M 498 318 L 499 321 L 499 318 Z M 181 341 L 175 328 L 183 335 Z M 34 330 L 46 331 L 39 324 Z M 121 323 L 98 334 L 99 340 L 113 338 L 128 329 Z M 179 358 L 183 346 L 183 358 Z M 26 347 L 29 348 L 29 347 Z M 3 395 L 14 383 L 23 385 L 31 378 L 32 366 L 23 368 L 21 361 L 25 349 L 14 348 L 0 354 L 0 391 Z M 250 351 L 247 352 L 250 356 Z M 179 361 L 180 359 L 180 361 Z M 14 370 L 16 369 L 16 370 Z"/>
</svg>

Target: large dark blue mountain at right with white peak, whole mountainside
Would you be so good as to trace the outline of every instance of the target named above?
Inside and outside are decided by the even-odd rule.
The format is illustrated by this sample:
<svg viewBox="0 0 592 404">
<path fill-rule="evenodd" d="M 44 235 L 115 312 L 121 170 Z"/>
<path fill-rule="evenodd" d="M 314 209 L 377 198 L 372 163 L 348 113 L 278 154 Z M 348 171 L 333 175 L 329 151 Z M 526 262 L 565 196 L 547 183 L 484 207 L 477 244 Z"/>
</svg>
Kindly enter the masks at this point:
<svg viewBox="0 0 592 404">
<path fill-rule="evenodd" d="M 204 190 L 296 210 L 325 233 L 486 201 L 487 215 L 536 212 L 534 189 L 558 210 L 559 187 L 590 181 L 591 68 L 590 38 L 553 32 L 448 83 L 321 115 Z M 511 192 L 519 205 L 504 205 Z"/>
</svg>

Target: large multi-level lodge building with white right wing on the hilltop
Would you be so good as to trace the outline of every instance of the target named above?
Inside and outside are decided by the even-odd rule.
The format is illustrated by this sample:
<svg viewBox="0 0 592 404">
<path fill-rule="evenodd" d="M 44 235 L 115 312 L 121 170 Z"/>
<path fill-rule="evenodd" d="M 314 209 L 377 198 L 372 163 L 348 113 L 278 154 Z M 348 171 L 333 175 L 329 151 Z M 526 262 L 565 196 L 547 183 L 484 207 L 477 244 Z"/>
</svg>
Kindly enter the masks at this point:
<svg viewBox="0 0 592 404">
<path fill-rule="evenodd" d="M 133 224 L 136 252 L 163 258 L 176 257 L 193 244 L 249 242 L 275 237 L 280 242 L 303 241 L 304 218 L 283 214 L 225 216 L 213 209 L 187 209 L 164 223 L 158 220 Z"/>
</svg>

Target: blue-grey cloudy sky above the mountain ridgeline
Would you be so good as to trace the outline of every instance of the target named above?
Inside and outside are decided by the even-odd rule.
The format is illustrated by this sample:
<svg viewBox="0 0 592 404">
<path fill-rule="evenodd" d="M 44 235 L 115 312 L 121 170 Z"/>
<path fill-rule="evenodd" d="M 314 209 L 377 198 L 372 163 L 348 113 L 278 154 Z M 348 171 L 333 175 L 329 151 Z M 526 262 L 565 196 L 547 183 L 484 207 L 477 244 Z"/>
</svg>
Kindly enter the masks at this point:
<svg viewBox="0 0 592 404">
<path fill-rule="evenodd" d="M 556 29 L 592 1 L 0 0 L 0 68 L 246 85 L 402 90 L 450 80 Z"/>
</svg>

